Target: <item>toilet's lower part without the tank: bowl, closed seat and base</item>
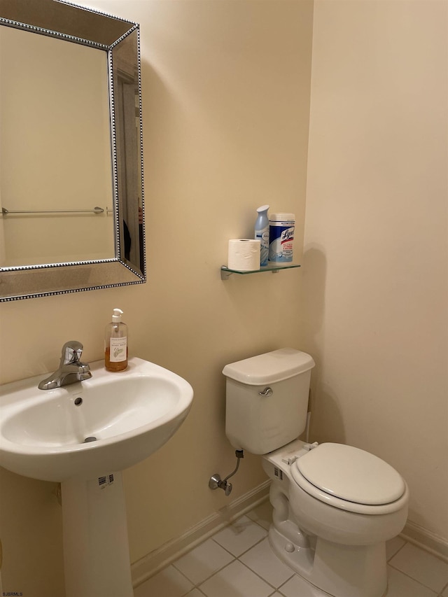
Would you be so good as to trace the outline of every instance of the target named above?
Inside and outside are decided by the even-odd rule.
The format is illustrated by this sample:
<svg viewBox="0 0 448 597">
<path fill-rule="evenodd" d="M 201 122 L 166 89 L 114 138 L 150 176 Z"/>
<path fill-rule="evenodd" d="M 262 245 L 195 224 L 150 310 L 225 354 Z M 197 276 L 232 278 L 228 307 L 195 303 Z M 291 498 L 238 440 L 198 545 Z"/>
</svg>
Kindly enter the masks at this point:
<svg viewBox="0 0 448 597">
<path fill-rule="evenodd" d="M 405 526 L 409 501 L 398 472 L 363 450 L 300 440 L 263 456 L 262 466 L 272 479 L 269 541 L 279 558 L 332 596 L 384 595 L 385 542 Z"/>
</svg>

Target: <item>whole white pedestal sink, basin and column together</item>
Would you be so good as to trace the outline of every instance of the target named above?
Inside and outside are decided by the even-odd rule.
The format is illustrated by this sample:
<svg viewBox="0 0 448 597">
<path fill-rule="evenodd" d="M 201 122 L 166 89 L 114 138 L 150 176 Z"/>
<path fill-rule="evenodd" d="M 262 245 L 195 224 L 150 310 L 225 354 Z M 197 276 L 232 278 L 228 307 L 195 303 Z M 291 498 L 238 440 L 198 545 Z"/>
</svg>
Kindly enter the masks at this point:
<svg viewBox="0 0 448 597">
<path fill-rule="evenodd" d="M 42 391 L 44 376 L 0 388 L 0 465 L 61 482 L 66 597 L 132 597 L 121 471 L 176 432 L 193 388 L 175 373 L 130 358 L 110 373 Z"/>
</svg>

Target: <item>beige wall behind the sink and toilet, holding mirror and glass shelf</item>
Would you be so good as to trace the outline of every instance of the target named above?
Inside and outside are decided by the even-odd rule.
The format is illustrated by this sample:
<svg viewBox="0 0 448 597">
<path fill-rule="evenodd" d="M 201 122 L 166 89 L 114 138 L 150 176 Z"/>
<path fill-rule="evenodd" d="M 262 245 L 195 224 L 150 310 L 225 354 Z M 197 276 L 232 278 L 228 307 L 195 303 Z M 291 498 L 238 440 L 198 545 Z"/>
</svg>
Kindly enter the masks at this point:
<svg viewBox="0 0 448 597">
<path fill-rule="evenodd" d="M 67 339 L 83 342 L 85 360 L 102 358 L 113 307 L 125 311 L 132 354 L 190 381 L 179 433 L 125 473 L 137 561 L 229 503 L 207 486 L 235 466 L 223 365 L 300 348 L 300 270 L 223 282 L 219 268 L 228 239 L 251 234 L 265 203 L 296 213 L 301 253 L 312 3 L 83 3 L 141 23 L 148 283 L 1 304 L 1 382 L 54 370 Z M 53 486 L 1 473 L 3 590 L 61 597 Z M 248 455 L 232 498 L 264 480 Z"/>
</svg>

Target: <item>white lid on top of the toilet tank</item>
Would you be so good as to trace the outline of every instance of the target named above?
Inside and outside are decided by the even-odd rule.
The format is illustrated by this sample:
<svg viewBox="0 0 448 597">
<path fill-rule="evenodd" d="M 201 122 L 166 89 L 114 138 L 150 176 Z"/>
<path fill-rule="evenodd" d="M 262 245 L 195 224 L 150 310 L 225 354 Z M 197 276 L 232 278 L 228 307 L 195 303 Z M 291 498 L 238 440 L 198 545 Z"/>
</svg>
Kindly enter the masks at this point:
<svg viewBox="0 0 448 597">
<path fill-rule="evenodd" d="M 313 358 L 307 353 L 279 349 L 225 365 L 223 374 L 241 384 L 259 386 L 294 377 L 312 369 L 314 364 Z"/>
</svg>

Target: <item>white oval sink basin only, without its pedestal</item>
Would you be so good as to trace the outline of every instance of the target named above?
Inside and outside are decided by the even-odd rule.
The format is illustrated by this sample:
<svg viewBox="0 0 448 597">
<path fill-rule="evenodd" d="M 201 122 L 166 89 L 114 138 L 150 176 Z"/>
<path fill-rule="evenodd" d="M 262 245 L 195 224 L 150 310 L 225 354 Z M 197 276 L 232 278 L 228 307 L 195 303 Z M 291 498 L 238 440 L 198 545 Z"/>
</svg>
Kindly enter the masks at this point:
<svg viewBox="0 0 448 597">
<path fill-rule="evenodd" d="M 45 376 L 0 386 L 1 466 L 45 481 L 93 479 L 144 460 L 188 414 L 193 388 L 163 367 L 130 358 L 124 372 L 103 361 L 90 370 L 54 390 L 38 389 Z"/>
</svg>

